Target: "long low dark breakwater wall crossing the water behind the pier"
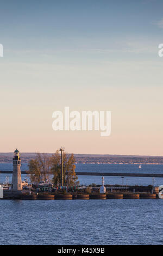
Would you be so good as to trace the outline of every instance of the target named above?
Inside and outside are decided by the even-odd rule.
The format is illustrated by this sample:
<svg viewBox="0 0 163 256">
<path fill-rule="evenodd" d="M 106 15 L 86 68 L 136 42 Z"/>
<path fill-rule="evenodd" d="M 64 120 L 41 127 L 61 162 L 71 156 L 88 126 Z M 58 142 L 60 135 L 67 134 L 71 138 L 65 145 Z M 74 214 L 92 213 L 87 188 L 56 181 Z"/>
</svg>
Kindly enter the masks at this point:
<svg viewBox="0 0 163 256">
<path fill-rule="evenodd" d="M 12 170 L 0 170 L 0 173 L 12 174 Z M 26 170 L 22 170 L 21 174 L 27 174 Z M 106 172 L 76 172 L 77 175 L 82 176 L 124 176 L 124 177 L 155 177 L 163 178 L 163 174 L 154 173 L 106 173 Z"/>
</svg>

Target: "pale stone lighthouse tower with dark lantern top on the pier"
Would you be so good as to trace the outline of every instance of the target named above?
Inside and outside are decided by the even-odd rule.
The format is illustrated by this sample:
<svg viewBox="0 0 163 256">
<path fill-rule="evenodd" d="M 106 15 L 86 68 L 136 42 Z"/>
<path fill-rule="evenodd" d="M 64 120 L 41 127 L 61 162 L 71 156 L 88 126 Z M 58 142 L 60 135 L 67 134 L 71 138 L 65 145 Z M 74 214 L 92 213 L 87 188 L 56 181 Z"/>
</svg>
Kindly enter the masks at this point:
<svg viewBox="0 0 163 256">
<path fill-rule="evenodd" d="M 22 179 L 21 179 L 21 159 L 20 152 L 16 149 L 13 158 L 13 174 L 11 191 L 18 192 L 22 190 Z"/>
</svg>

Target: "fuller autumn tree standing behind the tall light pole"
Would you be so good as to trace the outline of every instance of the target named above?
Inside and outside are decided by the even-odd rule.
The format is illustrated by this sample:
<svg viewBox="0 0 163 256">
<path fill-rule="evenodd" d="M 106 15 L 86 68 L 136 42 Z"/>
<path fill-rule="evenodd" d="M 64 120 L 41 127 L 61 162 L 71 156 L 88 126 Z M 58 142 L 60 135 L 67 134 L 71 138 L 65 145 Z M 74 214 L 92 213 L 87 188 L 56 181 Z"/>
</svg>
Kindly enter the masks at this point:
<svg viewBox="0 0 163 256">
<path fill-rule="evenodd" d="M 77 186 L 79 185 L 78 176 L 76 175 L 76 165 L 74 155 L 70 157 L 64 152 L 63 155 L 63 185 L 64 186 Z M 59 150 L 56 151 L 51 157 L 51 171 L 54 175 L 53 184 L 54 186 L 60 186 L 61 184 L 61 159 Z"/>
</svg>

